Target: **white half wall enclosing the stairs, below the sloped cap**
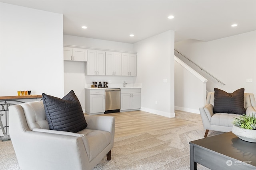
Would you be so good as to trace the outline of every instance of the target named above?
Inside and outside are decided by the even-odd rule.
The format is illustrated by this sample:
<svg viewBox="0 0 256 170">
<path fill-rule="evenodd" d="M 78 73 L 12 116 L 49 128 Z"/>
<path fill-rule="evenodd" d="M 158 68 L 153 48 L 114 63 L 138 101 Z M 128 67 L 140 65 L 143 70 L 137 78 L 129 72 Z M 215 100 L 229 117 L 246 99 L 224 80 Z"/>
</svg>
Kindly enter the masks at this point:
<svg viewBox="0 0 256 170">
<path fill-rule="evenodd" d="M 174 66 L 175 109 L 200 113 L 199 108 L 206 102 L 207 80 L 179 59 Z"/>
</svg>

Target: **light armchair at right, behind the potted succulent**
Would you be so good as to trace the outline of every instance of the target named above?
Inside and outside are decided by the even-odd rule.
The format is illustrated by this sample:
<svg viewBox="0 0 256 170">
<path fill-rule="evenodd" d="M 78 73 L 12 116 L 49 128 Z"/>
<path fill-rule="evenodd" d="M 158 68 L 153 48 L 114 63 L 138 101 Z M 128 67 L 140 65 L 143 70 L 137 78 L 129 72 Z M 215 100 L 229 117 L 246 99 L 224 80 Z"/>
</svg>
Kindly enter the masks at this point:
<svg viewBox="0 0 256 170">
<path fill-rule="evenodd" d="M 209 130 L 230 132 L 232 131 L 234 117 L 240 114 L 233 113 L 213 113 L 214 92 L 209 92 L 204 107 L 199 108 L 204 129 L 206 129 L 204 137 L 207 137 Z M 256 102 L 252 93 L 244 93 L 244 108 L 246 115 L 256 114 Z"/>
</svg>

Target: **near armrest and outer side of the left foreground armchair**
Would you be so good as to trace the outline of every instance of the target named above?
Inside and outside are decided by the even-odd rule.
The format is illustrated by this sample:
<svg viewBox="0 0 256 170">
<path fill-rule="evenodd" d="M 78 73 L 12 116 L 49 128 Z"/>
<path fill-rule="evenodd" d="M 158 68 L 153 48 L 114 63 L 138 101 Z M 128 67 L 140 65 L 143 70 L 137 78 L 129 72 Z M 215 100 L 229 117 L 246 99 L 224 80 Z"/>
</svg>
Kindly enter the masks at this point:
<svg viewBox="0 0 256 170">
<path fill-rule="evenodd" d="M 82 138 L 30 130 L 11 135 L 16 155 L 22 162 L 20 166 L 25 167 L 29 163 L 32 169 L 81 169 L 82 164 L 89 164 Z M 42 164 L 39 168 L 38 160 L 54 163 L 51 167 Z"/>
</svg>

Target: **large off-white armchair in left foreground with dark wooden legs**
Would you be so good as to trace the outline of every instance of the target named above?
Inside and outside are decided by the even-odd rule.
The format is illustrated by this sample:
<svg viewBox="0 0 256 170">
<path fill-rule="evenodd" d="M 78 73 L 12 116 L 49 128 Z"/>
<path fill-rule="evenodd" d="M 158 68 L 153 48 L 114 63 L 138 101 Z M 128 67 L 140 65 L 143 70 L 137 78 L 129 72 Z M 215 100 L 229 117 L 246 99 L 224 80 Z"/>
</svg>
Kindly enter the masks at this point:
<svg viewBox="0 0 256 170">
<path fill-rule="evenodd" d="M 22 170 L 91 170 L 114 145 L 115 117 L 85 116 L 78 133 L 49 130 L 42 101 L 9 107 L 12 144 Z"/>
</svg>

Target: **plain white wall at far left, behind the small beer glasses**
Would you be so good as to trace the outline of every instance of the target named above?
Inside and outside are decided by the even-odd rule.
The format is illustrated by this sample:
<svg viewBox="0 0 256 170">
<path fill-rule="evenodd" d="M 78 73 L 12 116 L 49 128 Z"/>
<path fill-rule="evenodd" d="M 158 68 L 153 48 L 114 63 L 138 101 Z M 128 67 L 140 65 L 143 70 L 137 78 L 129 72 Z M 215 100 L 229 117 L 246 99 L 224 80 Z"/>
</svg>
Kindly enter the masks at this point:
<svg viewBox="0 0 256 170">
<path fill-rule="evenodd" d="M 31 90 L 62 98 L 62 14 L 0 5 L 0 96 Z"/>
</svg>

